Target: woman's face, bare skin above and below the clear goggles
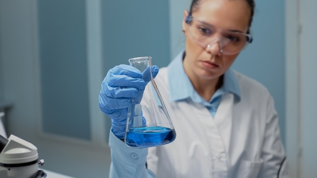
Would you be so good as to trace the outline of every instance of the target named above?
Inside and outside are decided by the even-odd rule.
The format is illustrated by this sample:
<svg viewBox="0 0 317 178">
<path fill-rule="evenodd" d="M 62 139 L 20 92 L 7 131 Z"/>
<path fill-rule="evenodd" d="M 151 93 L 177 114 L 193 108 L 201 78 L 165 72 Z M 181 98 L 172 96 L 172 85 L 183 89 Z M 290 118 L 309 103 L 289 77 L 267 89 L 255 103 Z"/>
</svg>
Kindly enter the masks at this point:
<svg viewBox="0 0 317 178">
<path fill-rule="evenodd" d="M 201 0 L 191 15 L 193 18 L 221 30 L 246 33 L 250 14 L 250 7 L 245 0 Z M 187 15 L 188 11 L 185 11 L 183 20 L 183 30 L 186 35 L 184 69 L 191 79 L 218 79 L 231 66 L 239 53 L 234 55 L 222 54 L 219 42 L 212 43 L 209 48 L 199 46 L 186 32 L 185 19 Z"/>
</svg>

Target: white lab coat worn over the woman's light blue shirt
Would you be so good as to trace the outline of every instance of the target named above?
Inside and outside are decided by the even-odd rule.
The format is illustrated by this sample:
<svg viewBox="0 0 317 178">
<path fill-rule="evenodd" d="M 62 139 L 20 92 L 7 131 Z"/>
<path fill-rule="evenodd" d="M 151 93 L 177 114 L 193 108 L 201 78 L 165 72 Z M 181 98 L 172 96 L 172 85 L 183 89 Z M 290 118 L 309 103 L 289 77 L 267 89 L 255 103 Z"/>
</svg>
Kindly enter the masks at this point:
<svg viewBox="0 0 317 178">
<path fill-rule="evenodd" d="M 156 178 L 288 177 L 271 95 L 257 81 L 235 74 L 241 100 L 231 93 L 222 96 L 215 118 L 190 99 L 165 102 L 177 136 L 148 149 L 147 168 Z M 167 77 L 167 68 L 155 77 L 164 101 L 169 101 Z M 153 99 L 145 92 L 141 104 L 148 100 Z"/>
</svg>

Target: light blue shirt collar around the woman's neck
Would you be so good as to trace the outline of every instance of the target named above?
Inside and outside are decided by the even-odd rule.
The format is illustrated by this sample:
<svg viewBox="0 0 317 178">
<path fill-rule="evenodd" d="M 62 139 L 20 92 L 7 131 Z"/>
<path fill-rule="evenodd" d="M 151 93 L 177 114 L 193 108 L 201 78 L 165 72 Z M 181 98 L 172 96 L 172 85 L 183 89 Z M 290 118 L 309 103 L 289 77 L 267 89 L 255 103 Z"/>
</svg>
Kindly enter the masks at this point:
<svg viewBox="0 0 317 178">
<path fill-rule="evenodd" d="M 183 68 L 183 55 L 184 52 L 178 54 L 168 66 L 170 101 L 191 98 L 194 102 L 201 103 L 203 102 L 202 98 L 194 90 Z M 240 100 L 240 86 L 233 70 L 230 68 L 224 73 L 223 85 L 216 91 L 209 102 L 212 102 L 214 98 L 224 93 L 232 93 Z"/>
</svg>

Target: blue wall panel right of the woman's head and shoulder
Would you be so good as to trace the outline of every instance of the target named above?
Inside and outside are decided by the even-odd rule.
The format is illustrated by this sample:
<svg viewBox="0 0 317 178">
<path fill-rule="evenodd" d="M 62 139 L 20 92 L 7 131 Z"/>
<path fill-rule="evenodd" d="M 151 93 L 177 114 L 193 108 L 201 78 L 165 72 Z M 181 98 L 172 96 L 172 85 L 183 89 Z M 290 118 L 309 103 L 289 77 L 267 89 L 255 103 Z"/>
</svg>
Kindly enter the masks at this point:
<svg viewBox="0 0 317 178">
<path fill-rule="evenodd" d="M 233 68 L 264 84 L 280 117 L 285 145 L 285 9 L 284 1 L 257 0 L 252 24 L 253 42 Z"/>
</svg>

